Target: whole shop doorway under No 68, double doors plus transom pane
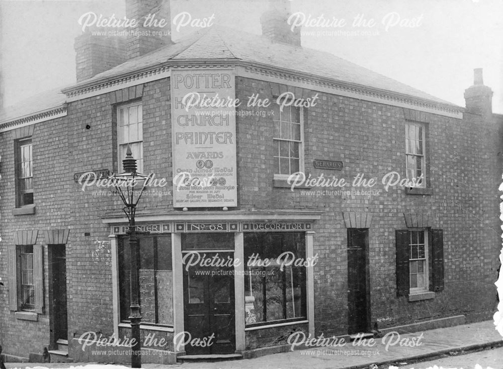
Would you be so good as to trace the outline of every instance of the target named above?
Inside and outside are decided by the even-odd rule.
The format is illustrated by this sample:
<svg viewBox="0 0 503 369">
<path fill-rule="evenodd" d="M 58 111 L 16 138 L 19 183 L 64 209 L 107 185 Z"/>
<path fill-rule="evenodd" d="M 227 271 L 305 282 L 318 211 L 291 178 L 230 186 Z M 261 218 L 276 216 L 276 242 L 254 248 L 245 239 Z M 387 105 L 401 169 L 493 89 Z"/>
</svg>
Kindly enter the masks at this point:
<svg viewBox="0 0 503 369">
<path fill-rule="evenodd" d="M 234 234 L 185 233 L 182 253 L 185 352 L 235 353 Z"/>
</svg>

